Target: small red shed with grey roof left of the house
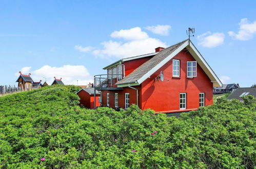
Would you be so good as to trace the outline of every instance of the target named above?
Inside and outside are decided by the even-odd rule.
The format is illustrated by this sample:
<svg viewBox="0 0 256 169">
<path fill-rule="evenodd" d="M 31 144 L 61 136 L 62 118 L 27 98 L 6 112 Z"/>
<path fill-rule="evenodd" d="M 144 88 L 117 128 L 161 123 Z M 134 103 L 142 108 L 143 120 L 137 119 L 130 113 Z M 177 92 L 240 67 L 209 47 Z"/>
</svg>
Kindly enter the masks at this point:
<svg viewBox="0 0 256 169">
<path fill-rule="evenodd" d="M 94 109 L 94 88 L 83 88 L 80 91 L 76 92 L 80 97 L 80 104 L 88 109 Z M 100 92 L 95 91 L 95 106 L 100 106 Z"/>
</svg>

